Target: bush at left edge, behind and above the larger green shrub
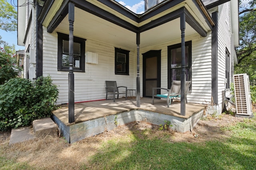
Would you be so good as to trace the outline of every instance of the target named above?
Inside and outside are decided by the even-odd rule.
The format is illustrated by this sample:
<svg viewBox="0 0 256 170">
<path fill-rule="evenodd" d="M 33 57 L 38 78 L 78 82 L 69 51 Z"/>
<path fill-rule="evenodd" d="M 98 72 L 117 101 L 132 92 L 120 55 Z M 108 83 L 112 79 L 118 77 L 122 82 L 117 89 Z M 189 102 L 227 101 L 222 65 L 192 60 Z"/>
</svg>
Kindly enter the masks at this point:
<svg viewBox="0 0 256 170">
<path fill-rule="evenodd" d="M 22 70 L 16 63 L 15 57 L 8 55 L 2 48 L 0 49 L 0 84 L 8 81 L 10 78 L 18 76 Z"/>
</svg>

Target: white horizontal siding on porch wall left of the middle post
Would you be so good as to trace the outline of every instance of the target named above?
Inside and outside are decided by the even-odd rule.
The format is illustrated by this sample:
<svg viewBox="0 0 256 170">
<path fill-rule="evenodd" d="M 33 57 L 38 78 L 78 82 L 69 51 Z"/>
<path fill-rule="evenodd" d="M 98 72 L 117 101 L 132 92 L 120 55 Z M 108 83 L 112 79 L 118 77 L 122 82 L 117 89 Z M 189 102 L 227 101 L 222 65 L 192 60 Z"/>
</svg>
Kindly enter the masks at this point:
<svg viewBox="0 0 256 170">
<path fill-rule="evenodd" d="M 45 27 L 43 30 L 43 74 L 44 76 L 50 75 L 53 83 L 58 85 L 59 99 L 57 104 L 68 103 L 68 72 L 57 70 L 58 35 L 56 32 L 47 33 Z M 85 46 L 85 51 L 98 54 L 98 64 L 85 63 L 85 72 L 74 72 L 75 102 L 105 99 L 105 80 L 114 80 L 118 86 L 136 89 L 136 74 L 134 73 L 136 44 L 134 44 L 134 49 L 126 49 L 118 45 L 87 38 Z M 115 75 L 114 47 L 130 51 L 129 75 Z"/>
</svg>

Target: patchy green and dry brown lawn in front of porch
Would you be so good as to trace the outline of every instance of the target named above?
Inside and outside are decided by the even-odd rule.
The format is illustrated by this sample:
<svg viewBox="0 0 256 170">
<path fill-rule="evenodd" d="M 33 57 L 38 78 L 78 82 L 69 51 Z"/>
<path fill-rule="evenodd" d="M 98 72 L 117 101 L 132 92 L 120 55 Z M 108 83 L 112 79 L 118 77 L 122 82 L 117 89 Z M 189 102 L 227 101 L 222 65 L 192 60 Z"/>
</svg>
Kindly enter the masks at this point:
<svg viewBox="0 0 256 170">
<path fill-rule="evenodd" d="M 1 170 L 256 169 L 255 116 L 200 120 L 186 134 L 135 123 L 73 144 L 46 137 L 9 146 L 8 140 L 0 140 Z"/>
</svg>

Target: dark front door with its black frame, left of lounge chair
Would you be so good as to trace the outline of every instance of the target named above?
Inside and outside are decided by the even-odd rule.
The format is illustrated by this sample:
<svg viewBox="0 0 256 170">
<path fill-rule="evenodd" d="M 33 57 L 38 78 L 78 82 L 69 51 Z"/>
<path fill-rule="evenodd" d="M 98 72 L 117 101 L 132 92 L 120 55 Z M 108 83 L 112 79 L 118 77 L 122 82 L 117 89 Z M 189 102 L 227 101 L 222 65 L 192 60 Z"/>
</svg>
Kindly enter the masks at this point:
<svg viewBox="0 0 256 170">
<path fill-rule="evenodd" d="M 143 55 L 143 97 L 152 97 L 152 88 L 161 86 L 161 50 Z"/>
</svg>

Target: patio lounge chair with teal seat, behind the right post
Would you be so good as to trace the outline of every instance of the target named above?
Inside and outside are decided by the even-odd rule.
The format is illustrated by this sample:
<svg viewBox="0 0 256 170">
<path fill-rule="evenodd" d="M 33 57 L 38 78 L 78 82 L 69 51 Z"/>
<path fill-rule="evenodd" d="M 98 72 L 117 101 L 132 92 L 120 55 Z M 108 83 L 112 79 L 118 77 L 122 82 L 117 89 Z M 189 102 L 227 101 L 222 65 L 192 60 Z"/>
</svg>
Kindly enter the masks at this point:
<svg viewBox="0 0 256 170">
<path fill-rule="evenodd" d="M 190 86 L 190 81 L 186 81 L 186 89 L 185 89 L 185 97 L 186 97 L 186 103 L 188 103 L 187 100 L 187 93 Z M 170 89 L 167 88 L 152 88 L 152 104 L 154 104 L 154 98 L 165 98 L 167 101 L 167 107 L 171 105 L 172 99 L 180 97 L 180 86 L 181 82 L 178 80 L 172 81 L 172 86 Z M 157 90 L 156 93 L 160 93 L 161 91 L 166 91 L 164 94 L 156 94 L 155 90 Z M 155 95 L 156 94 L 156 95 Z"/>
</svg>

